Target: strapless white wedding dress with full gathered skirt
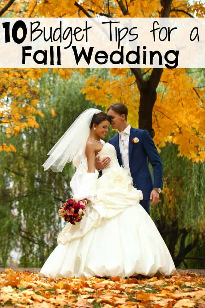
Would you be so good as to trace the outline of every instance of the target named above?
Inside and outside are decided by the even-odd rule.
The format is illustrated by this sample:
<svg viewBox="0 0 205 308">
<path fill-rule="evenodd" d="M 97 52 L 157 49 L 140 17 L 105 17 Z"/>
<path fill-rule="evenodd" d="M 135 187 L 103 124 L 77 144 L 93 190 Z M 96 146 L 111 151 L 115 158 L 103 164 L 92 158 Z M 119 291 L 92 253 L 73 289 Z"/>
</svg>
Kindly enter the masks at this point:
<svg viewBox="0 0 205 308">
<path fill-rule="evenodd" d="M 87 172 L 87 159 L 81 155 L 70 186 L 78 200 L 91 203 L 80 222 L 67 223 L 59 233 L 40 277 L 172 275 L 175 265 L 169 250 L 140 205 L 142 192 L 120 167 L 115 148 L 105 143 L 98 155 L 109 156 L 110 166 L 98 179 L 97 170 Z"/>
</svg>

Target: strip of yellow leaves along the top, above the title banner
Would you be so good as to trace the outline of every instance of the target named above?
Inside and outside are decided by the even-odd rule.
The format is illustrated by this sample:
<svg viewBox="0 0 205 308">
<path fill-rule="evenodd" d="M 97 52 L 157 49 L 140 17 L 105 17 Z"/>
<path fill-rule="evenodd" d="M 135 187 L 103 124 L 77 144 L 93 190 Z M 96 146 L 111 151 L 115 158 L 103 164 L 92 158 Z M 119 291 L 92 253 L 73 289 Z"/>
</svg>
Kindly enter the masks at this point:
<svg viewBox="0 0 205 308">
<path fill-rule="evenodd" d="M 0 1 L 1 7 L 4 7 L 7 2 L 6 0 Z M 108 2 L 103 0 L 82 0 L 79 3 L 91 17 L 97 17 L 99 14 L 110 14 L 112 17 L 160 17 L 160 12 L 163 9 L 158 0 L 122 1 L 125 10 L 127 10 L 124 14 L 117 0 L 109 2 L 109 8 Z M 17 0 L 12 4 L 11 10 L 13 17 L 87 17 L 75 5 L 75 0 L 61 0 L 60 2 L 57 0 Z M 200 1 L 173 0 L 170 17 L 188 17 L 186 12 L 197 17 L 204 17 L 205 6 Z"/>
</svg>

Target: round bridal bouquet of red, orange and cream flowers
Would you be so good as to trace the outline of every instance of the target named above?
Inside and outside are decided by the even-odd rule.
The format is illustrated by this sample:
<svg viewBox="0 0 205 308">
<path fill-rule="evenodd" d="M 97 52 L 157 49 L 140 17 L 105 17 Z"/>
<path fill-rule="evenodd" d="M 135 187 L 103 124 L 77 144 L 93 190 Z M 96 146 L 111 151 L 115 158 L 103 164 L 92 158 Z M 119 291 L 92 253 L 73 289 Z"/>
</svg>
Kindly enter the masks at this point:
<svg viewBox="0 0 205 308">
<path fill-rule="evenodd" d="M 85 211 L 87 201 L 85 199 L 76 201 L 74 198 L 68 199 L 67 201 L 64 199 L 64 201 L 59 209 L 59 216 L 72 225 L 75 225 L 75 221 L 81 221 L 83 215 L 85 215 L 83 210 Z"/>
</svg>

